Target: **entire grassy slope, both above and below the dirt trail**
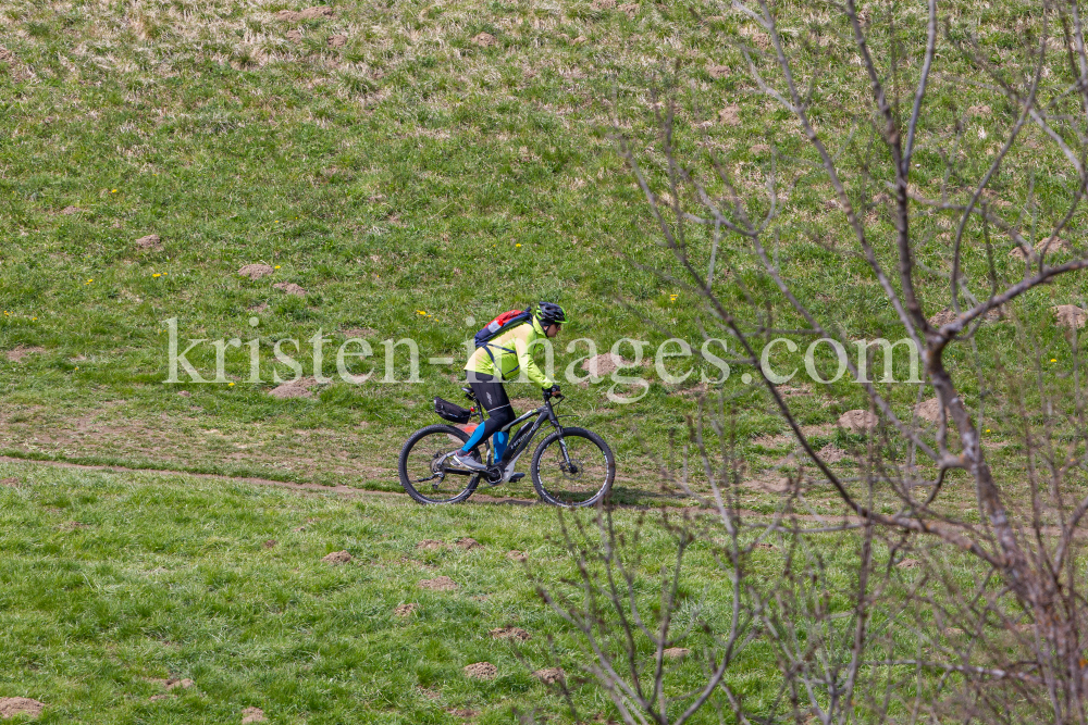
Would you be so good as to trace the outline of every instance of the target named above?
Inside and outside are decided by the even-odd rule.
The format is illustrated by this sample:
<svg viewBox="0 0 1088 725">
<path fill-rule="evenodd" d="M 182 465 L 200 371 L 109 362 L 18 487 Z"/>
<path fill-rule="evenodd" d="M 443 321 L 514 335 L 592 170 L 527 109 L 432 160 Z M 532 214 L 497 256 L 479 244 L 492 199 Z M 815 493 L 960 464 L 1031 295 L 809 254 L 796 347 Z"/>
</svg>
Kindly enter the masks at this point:
<svg viewBox="0 0 1088 725">
<path fill-rule="evenodd" d="M 332 3 L 334 18 L 285 23 L 275 18 L 288 9 L 279 1 L 4 3 L 0 453 L 396 491 L 401 442 L 436 422 L 432 396 L 457 399 L 463 342 L 498 312 L 559 301 L 574 320 L 560 343 L 591 337 L 601 351 L 623 337 L 647 340 L 651 350 L 671 335 L 697 343 L 701 325 L 710 322 L 706 311 L 681 285 L 631 264 L 678 272 L 609 138 L 615 114 L 655 188 L 664 189 L 651 87 L 683 89 L 680 152 L 705 172 L 705 150 L 716 151 L 746 192 L 762 188 L 761 174 L 770 168 L 766 147 L 775 146 L 776 171 L 795 183 L 777 227 L 783 274 L 845 336 L 900 337 L 871 273 L 852 253 L 842 215 L 827 205 L 830 190 L 812 172 L 812 151 L 788 114 L 738 72 L 743 61 L 730 41 L 758 45 L 751 25 L 715 3 L 643 2 L 631 12 L 603 4 Z M 897 8 L 897 27 L 917 41 L 916 9 Z M 1023 61 L 1021 30 L 1011 28 L 1037 24 L 1035 9 L 1002 2 L 951 10 L 953 36 L 981 28 L 994 62 Z M 867 80 L 851 62 L 853 50 L 832 33 L 841 24 L 804 3 L 781 12 L 791 52 L 819 79 L 813 105 L 821 133 L 845 149 L 842 158 L 863 158 L 858 137 L 855 146 L 848 139 Z M 809 27 L 827 39 L 819 46 L 827 55 L 799 42 L 800 29 Z M 289 40 L 288 30 L 301 39 Z M 481 33 L 496 43 L 478 45 Z M 330 46 L 333 35 L 346 43 Z M 886 41 L 874 43 L 881 57 Z M 914 62 L 900 68 L 904 78 L 917 72 L 917 48 L 906 48 Z M 936 198 L 944 178 L 938 147 L 966 123 L 964 166 L 949 183 L 951 197 L 962 199 L 1014 115 L 994 93 L 962 82 L 979 79 L 972 63 L 947 46 L 941 51 L 912 173 L 919 190 Z M 715 78 L 708 67 L 718 64 L 733 72 Z M 1052 71 L 1047 92 L 1068 80 L 1059 62 Z M 725 104 L 740 107 L 740 124 L 696 135 L 695 124 Z M 1042 140 L 1030 130 L 994 179 L 1009 204 L 998 209 L 1010 220 L 1021 212 L 1052 218 L 1070 199 L 1058 154 Z M 873 199 L 876 189 L 865 179 L 849 184 L 852 198 Z M 78 211 L 64 213 L 70 207 Z M 1067 236 L 1081 236 L 1085 222 L 1075 215 Z M 890 268 L 890 220 L 874 210 L 866 226 Z M 949 271 L 950 228 L 940 214 L 915 220 L 919 259 L 937 273 Z M 136 246 L 149 234 L 160 235 L 161 251 Z M 982 234 L 968 228 L 965 270 L 976 293 L 985 292 L 990 273 Z M 705 233 L 693 232 L 690 242 L 705 265 Z M 1010 248 L 1005 241 L 994 248 L 1001 284 L 1023 271 Z M 727 238 L 719 259 L 715 290 L 746 324 L 754 313 L 738 282 L 766 303 L 776 326 L 801 325 L 741 240 Z M 257 282 L 237 275 L 258 262 L 279 270 Z M 276 283 L 308 293 L 286 295 Z M 919 274 L 919 293 L 927 314 L 949 304 L 938 274 Z M 1083 299 L 1080 278 L 1058 280 L 1013 305 L 1015 323 L 984 325 L 977 358 L 968 346 L 949 351 L 968 402 L 987 403 L 979 422 L 992 432 L 986 434 L 991 460 L 1015 493 L 1027 471 L 1019 397 L 1029 423 L 1067 446 L 1055 460 L 1083 453 L 1065 412 L 1075 410 L 1077 348 L 1053 328 L 1049 311 Z M 468 315 L 477 322 L 468 324 Z M 163 385 L 171 317 L 180 320 L 183 338 L 259 335 L 263 382 L 246 380 L 243 348 L 227 352 L 233 386 Z M 310 399 L 271 398 L 272 346 L 319 329 L 337 343 L 361 330 L 378 360 L 382 340 L 411 337 L 424 361 L 453 355 L 458 364 L 424 362 L 418 384 L 337 382 Z M 802 349 L 807 341 L 798 339 Z M 1025 357 L 1027 342 L 1035 348 Z M 4 354 L 21 349 L 21 360 Z M 557 353 L 561 373 L 572 355 L 561 347 Z M 210 347 L 190 358 L 206 376 L 214 364 Z M 309 367 L 306 353 L 299 359 Z M 793 364 L 776 360 L 780 368 Z M 673 471 L 698 468 L 685 448 L 697 372 L 679 386 L 651 375 L 648 395 L 634 405 L 608 401 L 610 382 L 566 386 L 567 412 L 617 453 L 619 500 L 684 503 L 658 480 L 650 454 Z M 733 437 L 726 442 L 737 445 L 741 478 L 774 476 L 774 466 L 790 465 L 795 447 L 781 438 L 786 429 L 766 392 L 740 383 L 742 372 L 734 365 L 722 386 Z M 397 375 L 407 375 L 403 363 Z M 511 392 L 521 410 L 535 402 L 529 386 Z M 864 404 L 858 386 L 806 385 L 796 392 L 790 402 L 817 447 L 864 450 L 863 436 L 832 425 Z M 917 391 L 891 386 L 888 393 L 906 413 Z M 1044 416 L 1047 399 L 1058 404 Z M 904 454 L 894 442 L 887 452 Z M 858 473 L 849 458 L 837 465 Z M 558 698 L 528 673 L 529 665 L 551 663 L 548 637 L 558 661 L 574 671 L 576 639 L 504 558 L 508 548 L 526 549 L 530 568 L 540 566 L 547 580 L 571 573 L 564 550 L 548 542 L 557 532 L 548 510 L 423 510 L 242 483 L 0 464 L 0 473 L 24 471 L 33 472 L 27 487 L 0 489 L 0 654 L 20 664 L 0 673 L 0 695 L 49 702 L 46 722 L 231 722 L 247 705 L 261 707 L 273 722 L 455 722 L 446 709 L 458 707 L 483 712 L 480 722 L 509 722 L 515 708 L 534 705 L 560 722 L 566 716 Z M 1081 479 L 1071 474 L 1071 492 Z M 974 510 L 974 497 L 963 480 L 950 476 L 943 504 L 970 520 L 963 511 Z M 528 482 L 505 492 L 532 498 Z M 839 511 L 828 487 L 806 493 L 815 510 Z M 779 505 L 755 489 L 741 501 L 759 512 Z M 897 505 L 890 496 L 877 503 Z M 294 530 L 310 518 L 305 530 Z M 88 527 L 72 527 L 73 521 Z M 413 549 L 423 538 L 461 536 L 485 549 Z M 647 539 L 647 551 L 666 559 L 671 545 L 657 537 Z M 272 538 L 277 546 L 263 548 Z M 355 555 L 353 564 L 320 562 L 341 549 Z M 832 542 L 829 551 L 842 548 Z M 716 572 L 708 554 L 697 559 L 692 591 L 718 586 Z M 463 586 L 455 595 L 419 591 L 417 582 L 431 574 Z M 487 599 L 472 599 L 478 595 Z M 419 601 L 420 614 L 396 618 L 392 609 L 405 601 Z M 520 649 L 486 636 L 512 623 L 534 634 Z M 481 659 L 499 666 L 499 679 L 481 685 L 461 676 L 463 665 Z M 770 666 L 745 664 L 738 687 L 747 688 L 751 702 L 770 697 L 762 682 Z M 150 702 L 160 690 L 148 678 L 172 675 L 197 686 Z M 677 687 L 690 686 L 697 667 L 685 663 L 678 677 Z M 436 687 L 442 699 L 428 700 L 417 687 Z M 590 712 L 607 712 L 588 685 L 576 697 Z"/>
</svg>

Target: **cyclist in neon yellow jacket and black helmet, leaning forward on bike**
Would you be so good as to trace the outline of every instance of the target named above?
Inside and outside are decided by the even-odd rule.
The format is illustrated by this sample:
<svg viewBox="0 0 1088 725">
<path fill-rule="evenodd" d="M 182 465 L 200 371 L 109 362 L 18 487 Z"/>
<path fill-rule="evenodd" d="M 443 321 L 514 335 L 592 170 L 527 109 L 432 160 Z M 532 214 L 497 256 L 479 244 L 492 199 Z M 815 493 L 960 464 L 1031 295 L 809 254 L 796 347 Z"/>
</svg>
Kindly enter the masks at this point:
<svg viewBox="0 0 1088 725">
<path fill-rule="evenodd" d="M 494 436 L 495 463 L 503 460 L 509 439 L 508 427 L 517 418 L 503 383 L 510 379 L 519 367 L 530 380 L 541 386 L 545 397 L 559 395 L 559 386 L 541 372 L 529 348 L 541 337 L 558 335 L 565 322 L 567 315 L 562 308 L 541 302 L 533 309 L 531 322 L 516 325 L 487 340 L 469 358 L 465 365 L 468 382 L 489 417 L 484 425 L 477 426 L 465 446 L 453 455 L 458 465 L 472 471 L 486 471 L 487 466 L 473 459 L 470 451 L 489 436 Z"/>
</svg>

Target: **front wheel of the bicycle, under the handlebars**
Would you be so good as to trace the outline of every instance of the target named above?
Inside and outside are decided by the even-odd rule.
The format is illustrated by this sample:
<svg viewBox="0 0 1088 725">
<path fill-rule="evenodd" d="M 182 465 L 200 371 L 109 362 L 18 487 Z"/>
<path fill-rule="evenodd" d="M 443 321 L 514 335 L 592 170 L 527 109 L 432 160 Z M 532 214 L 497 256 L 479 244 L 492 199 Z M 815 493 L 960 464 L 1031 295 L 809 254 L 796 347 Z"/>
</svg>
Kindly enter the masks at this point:
<svg viewBox="0 0 1088 725">
<path fill-rule="evenodd" d="M 597 434 L 564 428 L 541 441 L 530 472 L 541 500 L 566 508 L 589 507 L 611 490 L 616 459 Z"/>
</svg>

